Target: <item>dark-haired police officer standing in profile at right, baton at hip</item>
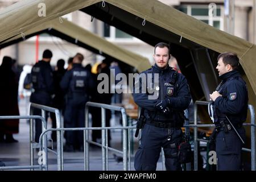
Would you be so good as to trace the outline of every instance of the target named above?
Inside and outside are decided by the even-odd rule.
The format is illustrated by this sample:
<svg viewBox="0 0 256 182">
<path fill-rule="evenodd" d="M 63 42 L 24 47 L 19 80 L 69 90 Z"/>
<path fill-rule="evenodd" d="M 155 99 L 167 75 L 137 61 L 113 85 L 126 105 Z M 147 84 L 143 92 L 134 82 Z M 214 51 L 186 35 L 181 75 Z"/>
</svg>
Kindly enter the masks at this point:
<svg viewBox="0 0 256 182">
<path fill-rule="evenodd" d="M 216 69 L 222 81 L 210 94 L 216 125 L 217 169 L 234 171 L 241 168 L 241 150 L 245 140 L 242 123 L 247 116 L 248 93 L 246 83 L 237 71 L 237 55 L 225 52 L 217 60 Z"/>
</svg>

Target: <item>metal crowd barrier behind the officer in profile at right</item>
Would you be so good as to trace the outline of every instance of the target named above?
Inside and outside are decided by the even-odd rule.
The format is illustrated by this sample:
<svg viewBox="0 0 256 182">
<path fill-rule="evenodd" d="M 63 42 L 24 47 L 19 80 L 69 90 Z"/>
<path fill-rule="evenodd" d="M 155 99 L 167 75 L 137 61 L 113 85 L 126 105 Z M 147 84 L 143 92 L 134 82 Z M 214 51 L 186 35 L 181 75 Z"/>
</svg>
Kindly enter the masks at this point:
<svg viewBox="0 0 256 182">
<path fill-rule="evenodd" d="M 198 127 L 214 127 L 214 124 L 201 124 L 197 125 L 197 105 L 208 105 L 209 102 L 207 101 L 196 101 L 194 104 L 194 125 L 184 125 L 184 127 L 193 127 L 194 128 L 194 170 L 197 171 L 198 169 L 198 143 L 199 141 L 208 141 L 202 140 L 197 138 L 197 128 Z M 251 152 L 251 170 L 255 171 L 255 112 L 252 105 L 248 105 L 248 109 L 250 110 L 251 114 L 251 123 L 243 123 L 243 126 L 251 126 L 251 149 L 250 148 L 242 148 L 243 151 Z"/>
</svg>

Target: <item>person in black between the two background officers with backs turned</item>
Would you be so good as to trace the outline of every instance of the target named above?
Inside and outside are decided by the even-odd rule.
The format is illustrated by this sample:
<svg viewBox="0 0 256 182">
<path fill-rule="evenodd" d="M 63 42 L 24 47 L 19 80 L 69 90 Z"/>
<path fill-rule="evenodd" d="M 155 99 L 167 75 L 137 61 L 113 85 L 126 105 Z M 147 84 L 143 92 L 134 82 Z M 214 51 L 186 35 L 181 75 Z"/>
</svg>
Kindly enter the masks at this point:
<svg viewBox="0 0 256 182">
<path fill-rule="evenodd" d="M 62 113 L 64 109 L 64 93 L 63 90 L 60 88 L 60 81 L 63 78 L 66 70 L 64 69 L 65 61 L 60 59 L 57 61 L 56 70 L 53 71 L 53 85 L 55 88 L 54 96 L 52 98 L 52 107 L 55 107 L 60 110 Z M 55 113 L 51 113 L 52 119 L 52 128 L 56 128 L 56 117 Z M 52 140 L 53 142 L 56 141 L 56 131 L 52 131 Z"/>
</svg>

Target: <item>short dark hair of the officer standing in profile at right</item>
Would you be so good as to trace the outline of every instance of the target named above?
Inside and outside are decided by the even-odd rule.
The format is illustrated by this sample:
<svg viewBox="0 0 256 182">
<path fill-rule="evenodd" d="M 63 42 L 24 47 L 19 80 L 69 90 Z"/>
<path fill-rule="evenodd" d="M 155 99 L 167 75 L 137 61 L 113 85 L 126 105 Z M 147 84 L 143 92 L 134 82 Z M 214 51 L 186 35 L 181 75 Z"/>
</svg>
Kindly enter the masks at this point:
<svg viewBox="0 0 256 182">
<path fill-rule="evenodd" d="M 221 59 L 224 63 L 224 65 L 230 64 L 233 69 L 237 69 L 239 66 L 239 58 L 237 57 L 236 53 L 232 52 L 224 52 L 218 55 L 217 60 Z"/>
</svg>

